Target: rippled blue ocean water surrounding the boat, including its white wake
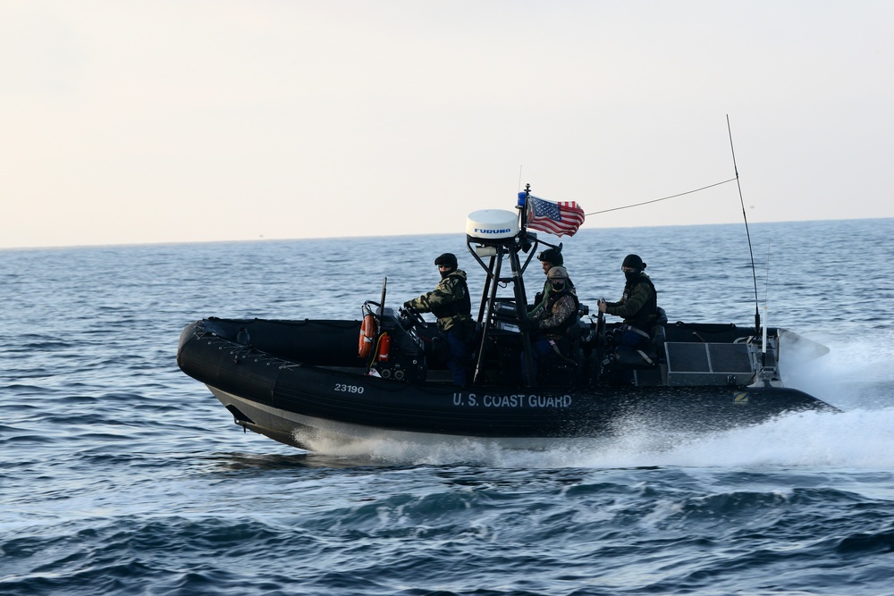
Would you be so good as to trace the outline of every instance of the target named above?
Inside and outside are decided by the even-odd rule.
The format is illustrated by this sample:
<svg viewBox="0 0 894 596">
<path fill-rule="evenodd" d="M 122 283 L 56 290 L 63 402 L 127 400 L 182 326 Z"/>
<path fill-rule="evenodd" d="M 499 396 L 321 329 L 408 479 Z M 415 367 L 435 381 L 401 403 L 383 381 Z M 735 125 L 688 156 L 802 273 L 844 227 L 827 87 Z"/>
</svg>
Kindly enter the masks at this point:
<svg viewBox="0 0 894 596">
<path fill-rule="evenodd" d="M 843 410 L 548 451 L 244 433 L 181 374 L 187 323 L 359 317 L 460 235 L 0 251 L 2 594 L 894 594 L 894 219 L 585 229 L 578 296 L 643 256 L 672 321 L 831 348 L 787 383 Z M 536 262 L 528 289 L 542 285 Z M 756 286 L 756 300 L 755 300 Z"/>
</svg>

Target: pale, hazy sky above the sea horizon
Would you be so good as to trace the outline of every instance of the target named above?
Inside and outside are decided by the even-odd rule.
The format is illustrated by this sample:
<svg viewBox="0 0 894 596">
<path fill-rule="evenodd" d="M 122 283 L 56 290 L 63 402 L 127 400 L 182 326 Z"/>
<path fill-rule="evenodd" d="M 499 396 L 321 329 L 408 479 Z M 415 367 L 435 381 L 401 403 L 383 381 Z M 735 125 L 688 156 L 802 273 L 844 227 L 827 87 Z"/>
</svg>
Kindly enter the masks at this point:
<svg viewBox="0 0 894 596">
<path fill-rule="evenodd" d="M 892 217 L 891 23 L 888 0 L 0 0 L 0 248 L 463 233 L 525 184 L 583 229 Z M 738 184 L 620 208 L 733 180 L 732 149 Z"/>
</svg>

